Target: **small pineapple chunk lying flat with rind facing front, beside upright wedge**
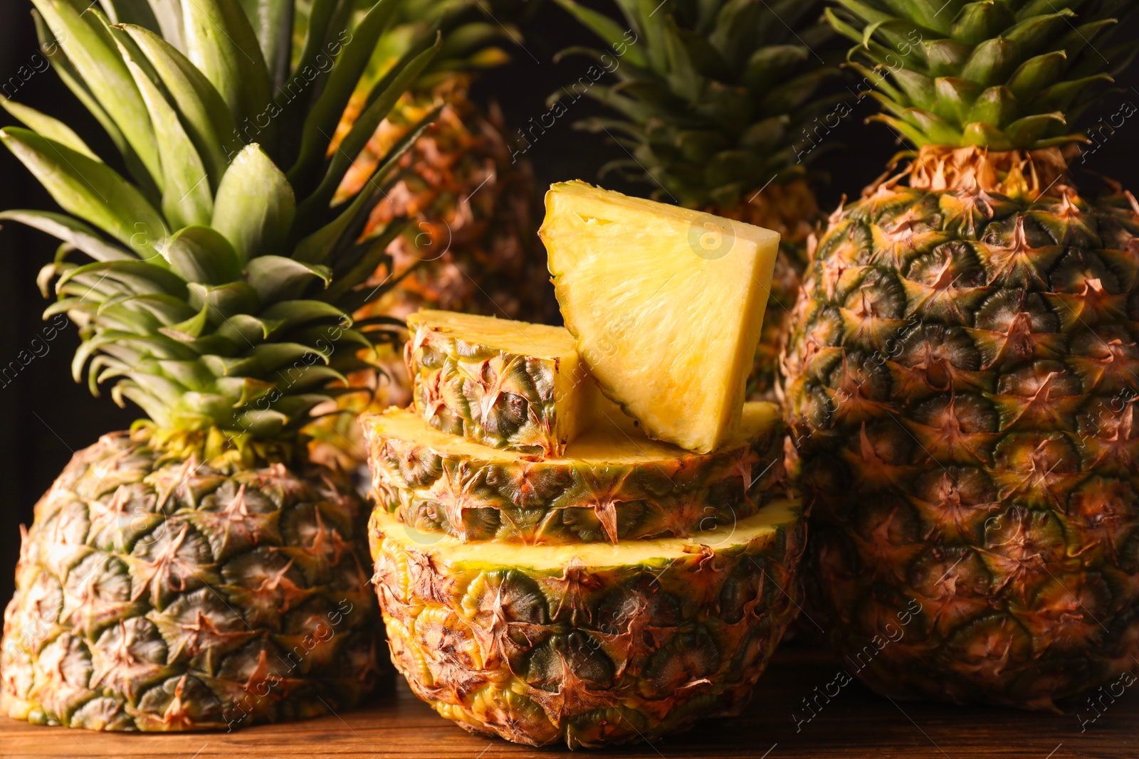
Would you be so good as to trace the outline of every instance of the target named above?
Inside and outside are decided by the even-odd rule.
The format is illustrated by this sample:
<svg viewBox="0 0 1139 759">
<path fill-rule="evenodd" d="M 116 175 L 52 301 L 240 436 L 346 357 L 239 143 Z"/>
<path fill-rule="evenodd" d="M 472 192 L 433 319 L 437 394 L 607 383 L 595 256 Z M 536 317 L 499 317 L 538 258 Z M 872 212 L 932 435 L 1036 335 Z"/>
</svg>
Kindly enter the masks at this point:
<svg viewBox="0 0 1139 759">
<path fill-rule="evenodd" d="M 425 310 L 408 330 L 416 413 L 444 432 L 560 456 L 604 398 L 564 327 Z"/>
</svg>

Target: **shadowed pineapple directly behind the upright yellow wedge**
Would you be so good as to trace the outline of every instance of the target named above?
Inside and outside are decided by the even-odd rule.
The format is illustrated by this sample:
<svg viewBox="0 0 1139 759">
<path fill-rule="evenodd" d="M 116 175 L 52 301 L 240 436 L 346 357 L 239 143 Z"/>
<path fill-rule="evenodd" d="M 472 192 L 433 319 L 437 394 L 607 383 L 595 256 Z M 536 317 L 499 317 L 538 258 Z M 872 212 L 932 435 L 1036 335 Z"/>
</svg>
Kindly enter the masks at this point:
<svg viewBox="0 0 1139 759">
<path fill-rule="evenodd" d="M 818 93 L 837 73 L 819 57 L 829 34 L 816 23 L 821 1 L 618 0 L 622 18 L 557 2 L 611 47 L 591 52 L 617 83 L 584 92 L 617 115 L 577 124 L 629 151 L 605 171 L 650 185 L 658 200 L 779 232 L 747 386 L 751 399 L 776 399 L 806 241 L 822 220 L 806 167 L 825 151 L 805 149 L 835 102 Z M 576 98 L 582 88 L 567 91 Z"/>
</svg>

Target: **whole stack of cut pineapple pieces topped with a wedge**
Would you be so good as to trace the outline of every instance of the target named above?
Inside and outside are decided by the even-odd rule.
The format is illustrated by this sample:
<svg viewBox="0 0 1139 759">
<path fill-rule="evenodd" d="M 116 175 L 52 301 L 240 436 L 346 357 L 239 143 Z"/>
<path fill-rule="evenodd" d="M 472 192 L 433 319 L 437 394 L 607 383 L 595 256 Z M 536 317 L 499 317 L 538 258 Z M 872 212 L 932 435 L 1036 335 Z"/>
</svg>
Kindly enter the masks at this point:
<svg viewBox="0 0 1139 759">
<path fill-rule="evenodd" d="M 543 238 L 568 329 L 412 314 L 412 404 L 361 418 L 374 579 L 392 661 L 442 716 L 533 745 L 652 740 L 738 711 L 797 605 L 805 526 L 782 497 L 780 413 L 743 403 L 778 236 L 749 228 L 756 244 L 740 224 L 738 255 L 708 265 L 678 209 L 580 183 L 550 198 Z M 605 234 L 573 229 L 583 218 Z M 607 275 L 590 255 L 603 240 L 658 267 Z M 743 286 L 680 287 L 702 270 Z M 589 319 L 612 323 L 614 307 L 640 330 L 601 350 Z M 686 344 L 665 333 L 690 328 L 678 308 L 723 315 L 723 329 Z M 636 363 L 641 345 L 659 361 Z M 697 413 L 671 412 L 686 403 Z"/>
</svg>

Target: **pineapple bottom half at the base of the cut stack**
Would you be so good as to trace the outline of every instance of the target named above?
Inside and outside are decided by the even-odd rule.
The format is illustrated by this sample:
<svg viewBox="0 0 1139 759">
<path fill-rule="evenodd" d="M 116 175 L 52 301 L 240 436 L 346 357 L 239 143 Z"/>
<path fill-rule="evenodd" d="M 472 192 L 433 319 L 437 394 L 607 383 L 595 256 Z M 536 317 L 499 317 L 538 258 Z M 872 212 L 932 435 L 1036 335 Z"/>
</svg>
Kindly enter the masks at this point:
<svg viewBox="0 0 1139 759">
<path fill-rule="evenodd" d="M 600 746 L 737 713 L 797 603 L 796 503 L 689 538 L 526 546 L 369 538 L 392 660 L 475 733 Z"/>
</svg>

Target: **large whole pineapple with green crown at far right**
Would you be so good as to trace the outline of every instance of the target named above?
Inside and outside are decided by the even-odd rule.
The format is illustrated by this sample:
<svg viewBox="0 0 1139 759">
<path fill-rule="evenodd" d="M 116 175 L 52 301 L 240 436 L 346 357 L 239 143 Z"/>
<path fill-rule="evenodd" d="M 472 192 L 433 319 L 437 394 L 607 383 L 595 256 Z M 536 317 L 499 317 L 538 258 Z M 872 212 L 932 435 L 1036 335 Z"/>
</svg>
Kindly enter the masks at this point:
<svg viewBox="0 0 1139 759">
<path fill-rule="evenodd" d="M 882 693 L 1046 709 L 1136 667 L 1139 204 L 1067 174 L 1131 7 L 830 13 L 918 148 L 830 218 L 785 364 L 818 603 Z"/>
</svg>

